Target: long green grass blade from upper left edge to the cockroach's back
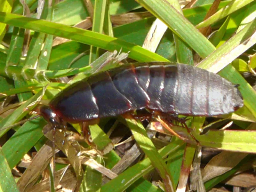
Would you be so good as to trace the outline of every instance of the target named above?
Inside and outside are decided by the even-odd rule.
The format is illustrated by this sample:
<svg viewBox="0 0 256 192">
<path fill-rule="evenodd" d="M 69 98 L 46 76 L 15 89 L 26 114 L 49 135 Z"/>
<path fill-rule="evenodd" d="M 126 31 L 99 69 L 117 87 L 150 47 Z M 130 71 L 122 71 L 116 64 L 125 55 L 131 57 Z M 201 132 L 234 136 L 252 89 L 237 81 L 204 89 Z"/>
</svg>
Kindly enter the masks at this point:
<svg viewBox="0 0 256 192">
<path fill-rule="evenodd" d="M 28 28 L 42 33 L 68 38 L 112 52 L 122 48 L 123 52 L 130 51 L 129 57 L 138 61 L 168 61 L 165 58 L 147 51 L 138 45 L 127 43 L 114 37 L 98 34 L 84 29 L 73 28 L 58 23 L 37 20 L 34 18 L 26 18 L 21 15 L 4 12 L 0 12 L 0 22 L 14 25 L 16 27 Z"/>
</svg>

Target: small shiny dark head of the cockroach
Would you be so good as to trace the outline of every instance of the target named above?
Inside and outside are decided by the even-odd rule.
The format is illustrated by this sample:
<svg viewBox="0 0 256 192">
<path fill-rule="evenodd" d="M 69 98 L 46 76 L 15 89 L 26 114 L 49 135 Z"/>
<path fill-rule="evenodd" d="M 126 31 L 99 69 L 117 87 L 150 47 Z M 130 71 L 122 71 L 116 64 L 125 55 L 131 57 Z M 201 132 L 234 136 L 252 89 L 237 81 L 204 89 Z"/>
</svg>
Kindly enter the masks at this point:
<svg viewBox="0 0 256 192">
<path fill-rule="evenodd" d="M 42 106 L 40 108 L 40 114 L 44 117 L 44 120 L 51 123 L 54 127 L 60 126 L 60 118 L 56 113 L 48 106 Z"/>
</svg>

